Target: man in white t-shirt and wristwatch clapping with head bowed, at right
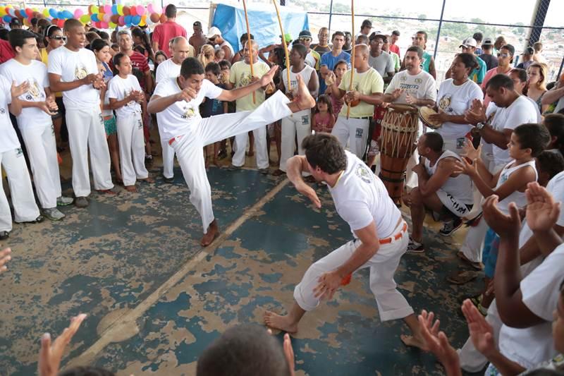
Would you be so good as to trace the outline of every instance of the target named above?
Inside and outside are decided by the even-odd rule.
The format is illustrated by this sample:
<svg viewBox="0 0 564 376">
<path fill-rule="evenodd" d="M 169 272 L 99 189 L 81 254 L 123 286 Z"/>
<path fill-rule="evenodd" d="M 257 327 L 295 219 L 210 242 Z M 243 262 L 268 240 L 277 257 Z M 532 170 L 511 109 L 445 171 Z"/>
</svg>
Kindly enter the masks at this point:
<svg viewBox="0 0 564 376">
<path fill-rule="evenodd" d="M 494 75 L 487 83 L 486 95 L 491 98 L 487 111 L 482 102 L 475 100 L 465 119 L 482 137 L 483 160 L 489 162 L 491 174 L 496 174 L 510 162 L 507 145 L 513 129 L 521 124 L 537 123 L 537 112 L 527 97 L 514 90 L 513 80 L 508 75 Z M 491 154 L 485 151 L 484 155 L 484 150 L 491 150 Z M 480 196 L 474 198 L 474 205 L 480 200 Z M 469 261 L 474 269 L 482 269 L 482 242 L 486 231 L 487 224 L 480 220 L 476 226 L 470 227 L 460 248 L 459 256 Z"/>
</svg>

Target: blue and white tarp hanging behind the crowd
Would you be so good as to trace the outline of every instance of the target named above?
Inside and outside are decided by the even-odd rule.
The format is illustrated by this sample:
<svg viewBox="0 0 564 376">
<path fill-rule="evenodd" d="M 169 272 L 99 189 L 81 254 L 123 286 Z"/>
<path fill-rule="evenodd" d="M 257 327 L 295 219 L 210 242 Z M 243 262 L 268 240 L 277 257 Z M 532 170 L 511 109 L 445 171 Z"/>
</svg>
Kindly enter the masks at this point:
<svg viewBox="0 0 564 376">
<path fill-rule="evenodd" d="M 300 31 L 309 29 L 307 13 L 292 11 L 284 6 L 279 8 L 284 32 L 290 33 L 293 39 L 298 38 Z M 247 13 L 249 15 L 251 34 L 255 37 L 260 47 L 281 42 L 280 26 L 278 25 L 274 4 L 271 6 L 253 4 L 252 6 L 247 6 Z M 236 7 L 217 4 L 212 26 L 221 30 L 223 39 L 231 43 L 235 51 L 243 47 L 239 44 L 240 35 L 247 32 L 243 5 Z"/>
</svg>

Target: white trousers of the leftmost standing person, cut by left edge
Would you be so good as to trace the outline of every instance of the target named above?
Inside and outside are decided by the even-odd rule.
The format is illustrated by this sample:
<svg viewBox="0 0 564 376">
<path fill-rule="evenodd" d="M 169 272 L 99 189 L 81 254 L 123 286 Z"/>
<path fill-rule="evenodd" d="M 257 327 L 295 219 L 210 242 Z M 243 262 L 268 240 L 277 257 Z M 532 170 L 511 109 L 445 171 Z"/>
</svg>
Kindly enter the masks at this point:
<svg viewBox="0 0 564 376">
<path fill-rule="evenodd" d="M 0 152 L 0 166 L 8 176 L 12 197 L 14 219 L 16 222 L 30 222 L 39 217 L 39 207 L 35 203 L 30 173 L 25 165 L 21 148 Z M 0 231 L 12 231 L 12 215 L 6 193 L 0 185 Z"/>
</svg>

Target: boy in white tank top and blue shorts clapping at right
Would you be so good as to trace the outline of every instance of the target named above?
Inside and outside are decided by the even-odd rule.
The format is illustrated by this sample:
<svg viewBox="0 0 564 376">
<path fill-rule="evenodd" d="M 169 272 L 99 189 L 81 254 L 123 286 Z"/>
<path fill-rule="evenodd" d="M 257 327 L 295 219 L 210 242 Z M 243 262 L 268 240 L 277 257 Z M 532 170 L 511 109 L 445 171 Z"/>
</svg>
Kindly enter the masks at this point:
<svg viewBox="0 0 564 376">
<path fill-rule="evenodd" d="M 537 181 L 538 178 L 534 158 L 541 154 L 549 141 L 550 135 L 545 126 L 539 124 L 517 126 L 511 134 L 508 144 L 509 155 L 513 160 L 496 175 L 492 175 L 482 162 L 479 151 L 481 147 L 476 150 L 471 142 L 467 142 L 466 158 L 463 158 L 462 162 L 456 162 L 458 168 L 455 172 L 470 176 L 476 188 L 484 197 L 498 195 L 498 209 L 508 214 L 510 202 L 515 202 L 519 208 L 525 207 L 527 204 L 525 197 L 527 184 Z M 467 162 L 467 159 L 472 162 Z M 498 247 L 499 236 L 489 228 L 482 250 L 482 261 L 486 274 L 484 293 L 472 298 L 472 303 L 477 305 L 483 315 L 486 315 L 487 308 L 494 299 L 494 291 L 489 287 L 494 278 Z"/>
</svg>

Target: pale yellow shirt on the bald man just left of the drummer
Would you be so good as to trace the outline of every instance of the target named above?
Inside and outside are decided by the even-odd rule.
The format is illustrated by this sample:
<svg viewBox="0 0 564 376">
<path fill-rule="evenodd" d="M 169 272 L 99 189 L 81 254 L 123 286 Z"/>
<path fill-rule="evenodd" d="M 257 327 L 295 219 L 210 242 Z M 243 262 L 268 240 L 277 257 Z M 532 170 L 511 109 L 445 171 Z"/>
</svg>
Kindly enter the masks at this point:
<svg viewBox="0 0 564 376">
<path fill-rule="evenodd" d="M 350 85 L 350 70 L 343 75 L 339 89 L 348 91 Z M 380 73 L 374 68 L 369 68 L 368 71 L 358 73 L 355 71 L 353 77 L 353 90 L 360 92 L 362 95 L 372 95 L 374 92 L 384 92 L 384 80 Z M 351 118 L 364 118 L 374 115 L 374 104 L 362 102 L 355 106 L 350 107 Z M 347 116 L 347 105 L 345 104 L 339 113 L 339 116 Z"/>
</svg>

